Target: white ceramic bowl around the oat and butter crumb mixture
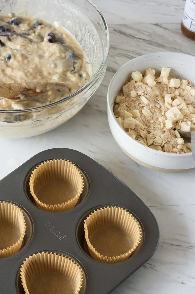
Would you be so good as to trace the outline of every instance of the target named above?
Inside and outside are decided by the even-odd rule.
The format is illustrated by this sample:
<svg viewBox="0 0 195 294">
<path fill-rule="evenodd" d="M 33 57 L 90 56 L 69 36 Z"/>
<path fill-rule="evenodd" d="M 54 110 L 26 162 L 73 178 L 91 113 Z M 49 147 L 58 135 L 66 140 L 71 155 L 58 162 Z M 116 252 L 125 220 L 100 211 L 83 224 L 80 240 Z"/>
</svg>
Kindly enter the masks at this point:
<svg viewBox="0 0 195 294">
<path fill-rule="evenodd" d="M 148 67 L 160 73 L 170 67 L 170 76 L 190 79 L 195 84 L 195 57 L 187 54 L 162 52 L 137 57 L 122 66 L 112 78 L 108 88 L 108 121 L 112 135 L 120 148 L 134 161 L 148 168 L 165 172 L 182 172 L 195 168 L 192 153 L 172 154 L 156 151 L 131 138 L 119 125 L 113 113 L 114 100 L 133 71 L 144 74 Z"/>
</svg>

